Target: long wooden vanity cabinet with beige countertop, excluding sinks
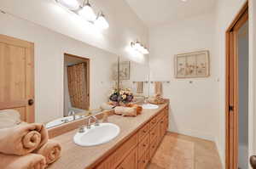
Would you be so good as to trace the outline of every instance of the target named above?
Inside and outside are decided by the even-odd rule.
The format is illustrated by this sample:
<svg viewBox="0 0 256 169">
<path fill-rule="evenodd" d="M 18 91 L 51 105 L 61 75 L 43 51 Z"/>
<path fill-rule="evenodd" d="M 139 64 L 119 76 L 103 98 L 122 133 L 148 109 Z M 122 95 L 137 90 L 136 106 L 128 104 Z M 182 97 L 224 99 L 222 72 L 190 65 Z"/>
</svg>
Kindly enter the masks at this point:
<svg viewBox="0 0 256 169">
<path fill-rule="evenodd" d="M 108 122 L 120 128 L 107 144 L 82 147 L 73 143 L 73 130 L 55 137 L 62 145 L 61 158 L 50 169 L 143 169 L 153 157 L 168 128 L 169 104 L 143 110 L 137 117 L 111 115 Z"/>
</svg>

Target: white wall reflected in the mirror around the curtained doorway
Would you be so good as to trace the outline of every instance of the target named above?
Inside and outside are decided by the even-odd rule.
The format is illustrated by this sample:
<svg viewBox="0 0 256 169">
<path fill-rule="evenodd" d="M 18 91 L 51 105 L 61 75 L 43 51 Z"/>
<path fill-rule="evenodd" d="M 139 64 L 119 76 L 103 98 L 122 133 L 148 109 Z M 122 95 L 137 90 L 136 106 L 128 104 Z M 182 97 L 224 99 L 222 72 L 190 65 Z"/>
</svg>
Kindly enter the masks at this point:
<svg viewBox="0 0 256 169">
<path fill-rule="evenodd" d="M 90 108 L 98 108 L 107 101 L 116 54 L 9 14 L 0 14 L 0 23 L 4 25 L 0 34 L 34 42 L 36 121 L 50 121 L 63 115 L 64 53 L 90 59 Z"/>
</svg>

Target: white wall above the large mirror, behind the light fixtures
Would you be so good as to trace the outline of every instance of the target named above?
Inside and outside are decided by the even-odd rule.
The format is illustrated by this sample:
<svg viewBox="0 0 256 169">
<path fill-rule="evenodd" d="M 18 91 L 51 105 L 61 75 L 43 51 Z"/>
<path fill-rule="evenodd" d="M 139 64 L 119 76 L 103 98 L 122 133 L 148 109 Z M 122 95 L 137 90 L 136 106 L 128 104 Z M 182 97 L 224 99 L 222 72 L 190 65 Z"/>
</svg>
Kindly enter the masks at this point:
<svg viewBox="0 0 256 169">
<path fill-rule="evenodd" d="M 131 41 L 138 39 L 148 44 L 148 28 L 125 1 L 93 0 L 90 3 L 96 12 L 102 10 L 106 15 L 108 30 L 97 31 L 60 8 L 55 0 L 1 0 L 0 9 L 113 54 L 133 57 L 129 50 Z"/>
</svg>

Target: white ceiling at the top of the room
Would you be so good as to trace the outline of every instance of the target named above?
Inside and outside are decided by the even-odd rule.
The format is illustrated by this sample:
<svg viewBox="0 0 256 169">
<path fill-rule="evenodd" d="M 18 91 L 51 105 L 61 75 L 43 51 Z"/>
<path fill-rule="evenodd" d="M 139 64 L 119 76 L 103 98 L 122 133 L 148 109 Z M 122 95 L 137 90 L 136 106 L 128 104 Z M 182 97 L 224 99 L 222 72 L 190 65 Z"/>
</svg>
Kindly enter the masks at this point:
<svg viewBox="0 0 256 169">
<path fill-rule="evenodd" d="M 218 0 L 125 0 L 138 17 L 150 26 L 163 25 L 214 11 Z"/>
</svg>

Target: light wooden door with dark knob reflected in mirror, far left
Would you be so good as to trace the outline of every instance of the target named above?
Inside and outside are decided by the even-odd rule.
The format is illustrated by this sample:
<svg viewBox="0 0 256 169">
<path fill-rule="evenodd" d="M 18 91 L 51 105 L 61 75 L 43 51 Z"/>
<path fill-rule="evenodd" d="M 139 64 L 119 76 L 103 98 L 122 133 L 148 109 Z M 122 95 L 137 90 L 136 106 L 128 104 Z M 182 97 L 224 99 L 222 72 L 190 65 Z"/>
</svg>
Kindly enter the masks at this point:
<svg viewBox="0 0 256 169">
<path fill-rule="evenodd" d="M 33 43 L 0 35 L 0 110 L 15 109 L 34 122 Z"/>
</svg>

